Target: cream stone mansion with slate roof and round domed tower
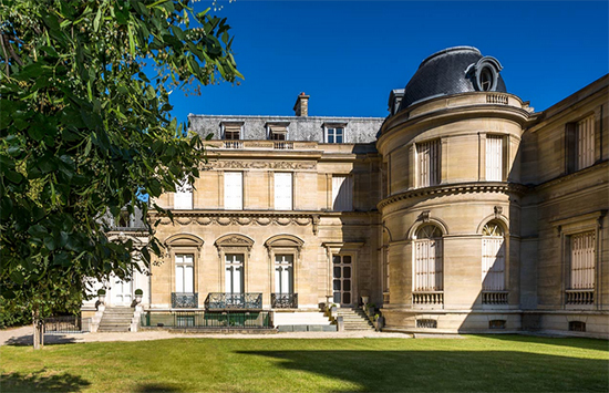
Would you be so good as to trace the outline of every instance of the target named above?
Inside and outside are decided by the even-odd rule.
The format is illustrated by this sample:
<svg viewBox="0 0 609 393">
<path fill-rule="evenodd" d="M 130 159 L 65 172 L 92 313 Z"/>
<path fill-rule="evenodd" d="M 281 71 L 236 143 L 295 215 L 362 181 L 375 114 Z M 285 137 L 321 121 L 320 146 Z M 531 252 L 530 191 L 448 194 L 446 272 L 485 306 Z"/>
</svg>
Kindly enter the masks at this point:
<svg viewBox="0 0 609 393">
<path fill-rule="evenodd" d="M 609 337 L 609 76 L 535 112 L 500 71 L 434 53 L 385 118 L 309 115 L 304 93 L 295 116 L 190 115 L 209 161 L 156 200 L 166 255 L 106 304 L 142 289 L 153 317 L 279 316 L 363 297 L 388 331 Z"/>
</svg>

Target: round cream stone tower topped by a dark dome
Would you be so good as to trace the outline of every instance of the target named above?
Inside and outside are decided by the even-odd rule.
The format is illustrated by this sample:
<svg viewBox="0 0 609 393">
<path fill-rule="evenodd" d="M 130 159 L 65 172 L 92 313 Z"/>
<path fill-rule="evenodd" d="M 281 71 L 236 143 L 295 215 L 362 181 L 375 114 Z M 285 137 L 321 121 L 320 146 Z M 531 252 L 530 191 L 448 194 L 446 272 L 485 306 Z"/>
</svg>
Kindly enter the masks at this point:
<svg viewBox="0 0 609 393">
<path fill-rule="evenodd" d="M 530 110 L 500 71 L 472 46 L 434 53 L 381 128 L 390 330 L 520 328 L 519 143 Z"/>
</svg>

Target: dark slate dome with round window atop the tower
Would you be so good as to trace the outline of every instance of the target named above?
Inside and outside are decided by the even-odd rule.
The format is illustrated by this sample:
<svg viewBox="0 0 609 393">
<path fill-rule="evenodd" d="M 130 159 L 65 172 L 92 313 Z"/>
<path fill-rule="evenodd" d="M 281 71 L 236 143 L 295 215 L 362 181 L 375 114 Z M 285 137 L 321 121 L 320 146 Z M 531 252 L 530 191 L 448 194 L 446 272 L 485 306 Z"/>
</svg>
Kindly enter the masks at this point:
<svg viewBox="0 0 609 393">
<path fill-rule="evenodd" d="M 468 92 L 506 92 L 495 58 L 473 46 L 454 46 L 423 60 L 404 90 L 400 111 L 421 101 Z"/>
</svg>

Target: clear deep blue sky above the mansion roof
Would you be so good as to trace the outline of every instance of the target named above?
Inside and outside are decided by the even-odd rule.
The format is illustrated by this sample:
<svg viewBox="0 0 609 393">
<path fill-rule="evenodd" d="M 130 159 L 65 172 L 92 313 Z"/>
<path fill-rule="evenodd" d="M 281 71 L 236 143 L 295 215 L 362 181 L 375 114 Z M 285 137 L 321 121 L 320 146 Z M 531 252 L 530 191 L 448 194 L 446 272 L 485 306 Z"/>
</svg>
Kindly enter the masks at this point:
<svg viewBox="0 0 609 393">
<path fill-rule="evenodd" d="M 388 115 L 427 55 L 472 45 L 499 60 L 509 93 L 537 110 L 609 72 L 608 1 L 219 1 L 235 35 L 240 85 L 171 95 L 189 113 L 293 115 L 300 92 L 309 115 Z M 200 11 L 210 1 L 195 3 Z"/>
</svg>

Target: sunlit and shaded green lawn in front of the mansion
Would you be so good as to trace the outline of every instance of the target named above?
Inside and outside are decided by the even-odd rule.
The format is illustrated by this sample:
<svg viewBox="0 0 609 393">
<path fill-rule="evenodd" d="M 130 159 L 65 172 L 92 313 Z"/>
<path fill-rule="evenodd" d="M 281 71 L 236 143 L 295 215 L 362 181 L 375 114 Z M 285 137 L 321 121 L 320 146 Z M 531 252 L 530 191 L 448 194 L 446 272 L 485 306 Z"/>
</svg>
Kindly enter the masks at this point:
<svg viewBox="0 0 609 393">
<path fill-rule="evenodd" d="M 609 391 L 609 343 L 173 339 L 0 348 L 1 392 Z"/>
</svg>

